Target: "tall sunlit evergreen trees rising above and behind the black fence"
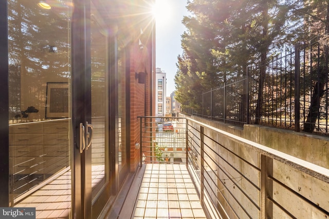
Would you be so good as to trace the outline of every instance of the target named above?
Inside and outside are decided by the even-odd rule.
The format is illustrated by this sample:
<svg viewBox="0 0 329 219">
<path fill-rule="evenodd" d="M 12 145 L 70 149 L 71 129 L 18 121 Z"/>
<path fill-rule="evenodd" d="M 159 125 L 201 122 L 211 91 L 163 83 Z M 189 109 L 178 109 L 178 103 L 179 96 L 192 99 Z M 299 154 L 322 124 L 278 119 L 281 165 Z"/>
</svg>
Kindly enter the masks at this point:
<svg viewBox="0 0 329 219">
<path fill-rule="evenodd" d="M 328 0 L 190 0 L 190 16 L 182 23 L 184 50 L 178 56 L 175 76 L 177 100 L 197 109 L 197 97 L 229 79 L 245 75 L 250 65 L 259 66 L 255 123 L 262 117 L 266 62 L 277 51 L 297 42 L 312 43 L 329 31 Z M 327 52 L 327 46 L 324 48 Z M 325 60 L 325 58 L 323 58 Z M 320 63 L 319 66 L 324 66 Z M 320 71 L 319 78 L 327 72 Z M 322 82 L 313 83 L 311 107 L 319 110 Z M 314 93 L 317 92 L 317 93 Z M 313 103 L 313 104 L 312 104 Z M 309 110 L 312 112 L 312 109 Z M 313 110 L 314 111 L 314 110 Z M 307 121 L 314 123 L 310 113 Z M 314 127 L 310 127 L 314 129 Z"/>
</svg>

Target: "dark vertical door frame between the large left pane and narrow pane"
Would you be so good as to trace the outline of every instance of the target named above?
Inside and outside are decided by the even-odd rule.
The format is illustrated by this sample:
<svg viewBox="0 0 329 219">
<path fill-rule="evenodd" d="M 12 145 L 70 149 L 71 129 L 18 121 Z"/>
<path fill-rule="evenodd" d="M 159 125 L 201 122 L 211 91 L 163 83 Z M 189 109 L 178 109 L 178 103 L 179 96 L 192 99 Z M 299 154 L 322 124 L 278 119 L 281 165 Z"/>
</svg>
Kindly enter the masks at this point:
<svg viewBox="0 0 329 219">
<path fill-rule="evenodd" d="M 72 211 L 74 218 L 91 218 L 92 193 L 87 192 L 86 164 L 88 153 L 80 153 L 80 123 L 90 121 L 90 0 L 73 0 L 71 22 L 72 65 Z M 89 85 L 89 86 L 88 86 Z M 88 89 L 89 88 L 89 89 Z M 91 166 L 91 165 L 90 165 Z M 91 168 L 91 167 L 90 167 Z M 91 182 L 90 182 L 91 184 Z"/>
</svg>

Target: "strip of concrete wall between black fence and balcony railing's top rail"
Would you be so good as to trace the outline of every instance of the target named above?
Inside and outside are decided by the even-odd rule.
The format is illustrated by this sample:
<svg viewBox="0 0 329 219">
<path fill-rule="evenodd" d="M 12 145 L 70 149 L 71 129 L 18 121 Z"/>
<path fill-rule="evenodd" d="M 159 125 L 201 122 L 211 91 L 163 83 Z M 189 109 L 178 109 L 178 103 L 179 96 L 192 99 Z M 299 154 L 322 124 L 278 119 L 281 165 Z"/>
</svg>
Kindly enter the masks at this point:
<svg viewBox="0 0 329 219">
<path fill-rule="evenodd" d="M 196 116 L 191 118 L 329 169 L 329 137 L 327 136 L 259 125 L 237 127 Z"/>
</svg>

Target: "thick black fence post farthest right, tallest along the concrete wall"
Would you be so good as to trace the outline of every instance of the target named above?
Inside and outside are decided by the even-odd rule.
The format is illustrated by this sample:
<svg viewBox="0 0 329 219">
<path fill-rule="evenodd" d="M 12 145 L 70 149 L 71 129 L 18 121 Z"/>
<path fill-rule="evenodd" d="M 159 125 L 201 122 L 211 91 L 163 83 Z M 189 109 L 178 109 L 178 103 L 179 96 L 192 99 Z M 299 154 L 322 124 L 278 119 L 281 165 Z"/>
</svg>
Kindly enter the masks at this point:
<svg viewBox="0 0 329 219">
<path fill-rule="evenodd" d="M 300 90 L 299 90 L 299 76 L 300 76 L 300 54 L 299 46 L 295 45 L 295 131 L 300 131 Z"/>
</svg>

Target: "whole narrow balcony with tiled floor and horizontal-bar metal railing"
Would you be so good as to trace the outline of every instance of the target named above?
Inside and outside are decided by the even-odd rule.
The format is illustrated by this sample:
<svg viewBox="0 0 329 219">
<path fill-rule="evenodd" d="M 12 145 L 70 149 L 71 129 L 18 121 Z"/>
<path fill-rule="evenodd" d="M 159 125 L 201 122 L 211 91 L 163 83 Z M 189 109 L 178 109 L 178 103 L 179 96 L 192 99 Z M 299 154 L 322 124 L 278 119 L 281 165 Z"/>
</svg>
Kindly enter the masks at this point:
<svg viewBox="0 0 329 219">
<path fill-rule="evenodd" d="M 169 122 L 140 117 L 140 169 L 119 218 L 329 216 L 326 167 L 192 118 Z"/>
</svg>

